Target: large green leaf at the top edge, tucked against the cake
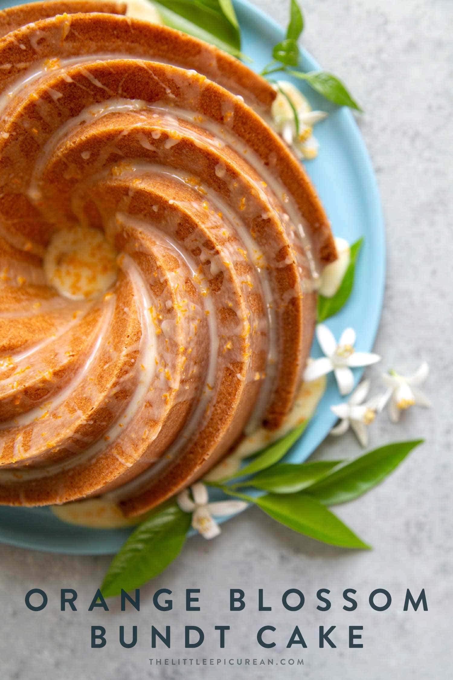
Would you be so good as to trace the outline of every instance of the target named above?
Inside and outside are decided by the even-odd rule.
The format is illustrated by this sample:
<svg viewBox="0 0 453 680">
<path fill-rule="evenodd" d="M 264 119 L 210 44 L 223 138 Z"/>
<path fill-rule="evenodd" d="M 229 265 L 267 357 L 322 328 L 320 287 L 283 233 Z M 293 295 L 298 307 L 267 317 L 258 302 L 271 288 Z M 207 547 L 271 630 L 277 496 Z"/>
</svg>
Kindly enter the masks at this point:
<svg viewBox="0 0 453 680">
<path fill-rule="evenodd" d="M 167 26 L 240 54 L 240 30 L 231 0 L 154 0 Z M 164 9 L 162 9 L 164 8 Z"/>
</svg>

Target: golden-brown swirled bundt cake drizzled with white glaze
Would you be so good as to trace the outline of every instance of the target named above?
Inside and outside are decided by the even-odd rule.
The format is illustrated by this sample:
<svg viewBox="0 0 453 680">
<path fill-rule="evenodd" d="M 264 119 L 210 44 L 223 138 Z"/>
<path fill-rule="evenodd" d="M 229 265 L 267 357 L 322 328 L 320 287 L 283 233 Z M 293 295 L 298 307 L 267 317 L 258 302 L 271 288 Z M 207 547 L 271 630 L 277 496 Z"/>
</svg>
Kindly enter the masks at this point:
<svg viewBox="0 0 453 680">
<path fill-rule="evenodd" d="M 336 258 L 240 61 L 124 3 L 0 12 L 0 503 L 126 515 L 291 408 Z"/>
</svg>

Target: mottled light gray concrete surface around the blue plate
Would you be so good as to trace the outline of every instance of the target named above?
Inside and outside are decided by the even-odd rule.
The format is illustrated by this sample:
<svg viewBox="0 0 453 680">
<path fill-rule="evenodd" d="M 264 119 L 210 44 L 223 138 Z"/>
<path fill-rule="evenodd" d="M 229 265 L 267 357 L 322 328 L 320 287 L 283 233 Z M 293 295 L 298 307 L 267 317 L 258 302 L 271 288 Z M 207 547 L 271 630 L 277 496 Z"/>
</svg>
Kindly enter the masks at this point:
<svg viewBox="0 0 453 680">
<path fill-rule="evenodd" d="M 287 0 L 260 0 L 280 23 Z M 448 0 L 305 0 L 304 44 L 325 69 L 348 83 L 366 109 L 360 119 L 378 175 L 388 237 L 388 279 L 376 351 L 388 366 L 412 371 L 427 359 L 431 411 L 413 409 L 395 428 L 386 417 L 374 443 L 426 437 L 427 443 L 384 485 L 338 512 L 374 550 L 359 554 L 314 543 L 285 530 L 259 511 L 247 511 L 219 539 L 189 541 L 183 556 L 142 590 L 143 607 L 88 613 L 88 603 L 109 558 L 54 556 L 0 547 L 1 680 L 136 680 L 310 678 L 325 680 L 437 680 L 452 677 L 448 619 L 452 571 L 452 41 Z M 450 76 L 450 92 L 448 78 Z M 448 145 L 450 143 L 450 149 Z M 316 456 L 357 452 L 346 437 L 328 440 Z M 46 611 L 24 607 L 31 587 L 48 592 Z M 59 589 L 76 588 L 81 611 L 60 613 Z M 184 589 L 202 588 L 199 613 L 185 613 Z M 228 613 L 228 588 L 243 588 L 247 609 Z M 404 613 L 406 588 L 427 592 L 429 611 Z M 153 609 L 151 594 L 173 590 L 173 611 Z M 264 588 L 273 611 L 257 612 Z M 283 610 L 280 594 L 300 588 L 306 605 Z M 318 588 L 332 591 L 332 607 L 316 611 Z M 342 610 L 341 593 L 355 588 L 359 607 Z M 391 608 L 367 604 L 374 588 L 393 595 Z M 276 647 L 257 646 L 259 626 L 273 624 Z M 90 626 L 107 628 L 107 647 L 90 649 Z M 139 625 L 139 644 L 122 649 L 118 628 Z M 151 624 L 170 624 L 171 653 L 153 652 Z M 200 650 L 183 649 L 183 626 L 204 629 Z M 219 650 L 213 626 L 230 624 Z M 308 649 L 285 649 L 299 624 Z M 336 625 L 337 649 L 319 649 L 319 625 Z M 363 649 L 348 649 L 347 626 L 363 625 Z M 304 658 L 304 666 L 160 666 L 149 658 Z M 244 663 L 244 662 L 243 662 Z"/>
</svg>

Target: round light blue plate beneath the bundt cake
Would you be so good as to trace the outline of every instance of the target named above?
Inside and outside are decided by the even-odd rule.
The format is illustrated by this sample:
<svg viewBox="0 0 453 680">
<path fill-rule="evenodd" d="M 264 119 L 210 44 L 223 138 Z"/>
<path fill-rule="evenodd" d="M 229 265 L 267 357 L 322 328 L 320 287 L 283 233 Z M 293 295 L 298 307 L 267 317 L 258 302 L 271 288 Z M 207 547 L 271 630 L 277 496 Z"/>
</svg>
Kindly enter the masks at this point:
<svg viewBox="0 0 453 680">
<path fill-rule="evenodd" d="M 19 2 L 0 0 L 2 9 L 12 4 Z M 235 7 L 242 29 L 242 50 L 253 59 L 251 67 L 260 71 L 271 60 L 272 46 L 285 37 L 283 30 L 246 0 L 236 0 Z M 302 67 L 306 71 L 319 69 L 305 51 Z M 353 326 L 357 332 L 357 349 L 368 352 L 378 328 L 385 278 L 384 224 L 372 165 L 352 114 L 347 109 L 329 105 L 300 81 L 297 86 L 314 109 L 329 112 L 329 117 L 316 126 L 321 145 L 319 156 L 306 163 L 306 169 L 327 211 L 333 233 L 350 242 L 365 237 L 355 288 L 346 306 L 327 324 L 336 337 L 347 326 Z M 312 354 L 320 356 L 316 343 Z M 356 373 L 358 380 L 361 371 Z M 338 401 L 338 390 L 330 375 L 316 415 L 287 460 L 306 460 L 325 439 L 335 422 L 329 407 Z M 46 508 L 0 508 L 0 541 L 20 547 L 71 554 L 108 554 L 116 552 L 129 533 L 128 529 L 98 530 L 65 524 Z"/>
</svg>

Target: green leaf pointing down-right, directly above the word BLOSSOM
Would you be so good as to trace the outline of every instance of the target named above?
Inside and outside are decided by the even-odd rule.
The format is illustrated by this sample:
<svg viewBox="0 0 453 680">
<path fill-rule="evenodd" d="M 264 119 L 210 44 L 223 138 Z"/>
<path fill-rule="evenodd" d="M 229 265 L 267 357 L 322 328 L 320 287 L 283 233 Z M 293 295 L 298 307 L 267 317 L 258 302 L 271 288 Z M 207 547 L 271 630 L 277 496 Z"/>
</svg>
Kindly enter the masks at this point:
<svg viewBox="0 0 453 680">
<path fill-rule="evenodd" d="M 345 548 L 369 548 L 325 505 L 304 493 L 266 494 L 254 503 L 280 524 L 316 541 Z"/>
</svg>

